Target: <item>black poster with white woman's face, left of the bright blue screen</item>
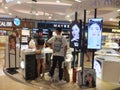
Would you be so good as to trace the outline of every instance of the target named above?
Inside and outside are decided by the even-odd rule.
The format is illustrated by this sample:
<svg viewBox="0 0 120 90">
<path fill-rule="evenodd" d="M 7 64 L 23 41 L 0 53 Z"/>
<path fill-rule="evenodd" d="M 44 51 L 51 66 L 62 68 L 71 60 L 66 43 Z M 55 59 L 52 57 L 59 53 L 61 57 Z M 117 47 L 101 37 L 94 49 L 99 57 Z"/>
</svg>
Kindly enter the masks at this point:
<svg viewBox="0 0 120 90">
<path fill-rule="evenodd" d="M 74 21 L 70 25 L 70 47 L 80 48 L 81 43 L 81 23 Z"/>
</svg>

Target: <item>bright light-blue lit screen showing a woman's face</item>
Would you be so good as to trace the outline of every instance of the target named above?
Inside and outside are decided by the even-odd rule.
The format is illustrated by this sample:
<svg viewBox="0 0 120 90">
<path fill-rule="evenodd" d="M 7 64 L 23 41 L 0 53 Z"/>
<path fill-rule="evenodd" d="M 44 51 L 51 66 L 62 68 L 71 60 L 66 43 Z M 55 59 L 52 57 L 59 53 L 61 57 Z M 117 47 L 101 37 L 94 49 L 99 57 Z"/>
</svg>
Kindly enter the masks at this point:
<svg viewBox="0 0 120 90">
<path fill-rule="evenodd" d="M 101 49 L 102 18 L 90 18 L 88 21 L 88 49 Z"/>
</svg>

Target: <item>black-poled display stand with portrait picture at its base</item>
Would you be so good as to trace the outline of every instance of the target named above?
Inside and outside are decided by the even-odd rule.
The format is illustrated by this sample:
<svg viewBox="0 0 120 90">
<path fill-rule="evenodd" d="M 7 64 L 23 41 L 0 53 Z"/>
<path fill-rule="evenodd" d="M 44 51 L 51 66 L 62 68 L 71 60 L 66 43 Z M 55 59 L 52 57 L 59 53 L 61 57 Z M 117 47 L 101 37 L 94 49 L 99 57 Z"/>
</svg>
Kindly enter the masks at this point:
<svg viewBox="0 0 120 90">
<path fill-rule="evenodd" d="M 96 9 L 95 9 L 96 17 Z M 85 30 L 86 30 L 86 10 L 84 10 L 84 30 L 82 34 L 82 46 L 85 47 Z M 92 49 L 92 67 L 84 67 L 84 49 L 82 48 L 81 59 L 82 59 L 82 70 L 78 71 L 78 85 L 80 88 L 94 88 L 96 87 L 96 72 L 94 67 L 94 49 Z"/>
</svg>

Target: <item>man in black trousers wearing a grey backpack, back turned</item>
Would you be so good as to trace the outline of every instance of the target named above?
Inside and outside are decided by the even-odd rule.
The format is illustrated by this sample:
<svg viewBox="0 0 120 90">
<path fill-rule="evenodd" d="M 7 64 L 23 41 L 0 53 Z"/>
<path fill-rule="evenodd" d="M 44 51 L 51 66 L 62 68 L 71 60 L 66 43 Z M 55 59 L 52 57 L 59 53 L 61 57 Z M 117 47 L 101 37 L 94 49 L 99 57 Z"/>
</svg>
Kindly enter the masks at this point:
<svg viewBox="0 0 120 90">
<path fill-rule="evenodd" d="M 51 79 L 53 81 L 53 75 L 58 63 L 59 65 L 59 83 L 62 83 L 63 80 L 63 68 L 62 64 L 65 61 L 66 52 L 67 52 L 67 40 L 66 38 L 62 37 L 61 35 L 62 29 L 56 28 L 55 33 L 56 35 L 51 37 L 47 42 L 46 45 L 51 46 L 53 49 L 53 63 L 50 71 Z"/>
</svg>

